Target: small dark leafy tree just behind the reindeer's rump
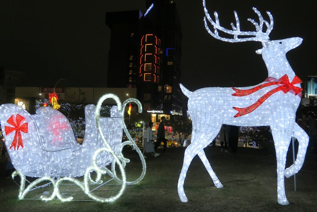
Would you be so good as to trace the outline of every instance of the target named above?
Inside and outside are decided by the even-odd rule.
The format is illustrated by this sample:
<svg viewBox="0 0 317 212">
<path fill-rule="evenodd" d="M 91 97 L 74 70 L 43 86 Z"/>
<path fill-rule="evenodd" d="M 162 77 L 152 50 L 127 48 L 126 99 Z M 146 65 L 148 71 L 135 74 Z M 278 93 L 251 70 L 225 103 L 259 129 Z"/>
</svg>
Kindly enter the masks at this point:
<svg viewBox="0 0 317 212">
<path fill-rule="evenodd" d="M 178 134 L 178 138 L 181 146 L 184 145 L 184 140 L 191 134 L 192 123 L 191 120 L 187 120 L 185 117 L 181 117 L 179 120 L 172 120 L 171 126 L 173 132 Z"/>
</svg>

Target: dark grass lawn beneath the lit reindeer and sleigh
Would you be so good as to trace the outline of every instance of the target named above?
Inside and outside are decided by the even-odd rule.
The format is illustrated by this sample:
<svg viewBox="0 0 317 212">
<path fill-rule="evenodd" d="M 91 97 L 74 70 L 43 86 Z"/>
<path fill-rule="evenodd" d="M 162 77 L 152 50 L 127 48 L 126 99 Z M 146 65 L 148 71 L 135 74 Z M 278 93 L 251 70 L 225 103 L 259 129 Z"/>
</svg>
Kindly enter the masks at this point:
<svg viewBox="0 0 317 212">
<path fill-rule="evenodd" d="M 19 187 L 6 178 L 6 160 L 1 160 L 0 211 L 316 211 L 317 154 L 307 153 L 302 169 L 296 174 L 297 191 L 294 191 L 293 176 L 285 178 L 290 205 L 282 206 L 277 203 L 274 152 L 244 147 L 239 147 L 237 154 L 221 152 L 219 147 L 208 146 L 204 150 L 224 187 L 218 189 L 213 185 L 200 158 L 195 156 L 184 184 L 188 202 L 181 202 L 177 192 L 184 147 L 168 148 L 169 154 L 157 158 L 148 154 L 145 178 L 136 185 L 127 186 L 123 195 L 113 203 L 36 200 L 44 191 L 51 192 L 52 187 L 31 191 L 25 200 L 18 200 Z M 137 178 L 142 170 L 138 155 L 128 149 L 125 156 L 131 160 L 126 166 L 128 180 Z M 292 161 L 290 154 L 287 167 Z M 15 180 L 19 182 L 20 178 L 17 176 Z M 116 194 L 119 188 L 106 185 L 94 194 L 108 197 Z M 76 186 L 64 185 L 63 190 L 66 196 L 89 200 Z"/>
</svg>

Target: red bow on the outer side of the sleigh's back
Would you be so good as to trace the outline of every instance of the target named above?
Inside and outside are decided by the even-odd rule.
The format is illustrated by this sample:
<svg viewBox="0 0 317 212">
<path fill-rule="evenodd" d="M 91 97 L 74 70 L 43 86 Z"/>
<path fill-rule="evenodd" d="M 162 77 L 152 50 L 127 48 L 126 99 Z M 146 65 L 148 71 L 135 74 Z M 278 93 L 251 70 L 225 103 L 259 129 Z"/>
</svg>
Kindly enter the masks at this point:
<svg viewBox="0 0 317 212">
<path fill-rule="evenodd" d="M 24 123 L 20 126 L 21 122 L 24 121 L 25 118 L 21 116 L 20 114 L 16 114 L 16 120 L 14 120 L 14 116 L 10 116 L 10 118 L 7 120 L 7 123 L 12 125 L 10 126 L 4 126 L 4 131 L 6 135 L 9 135 L 13 131 L 16 131 L 14 134 L 13 141 L 11 143 L 10 149 L 14 147 L 14 150 L 19 150 L 19 147 L 21 146 L 23 148 L 23 140 L 21 136 L 21 132 L 28 133 L 28 123 Z M 17 142 L 17 149 L 16 149 L 16 142 Z"/>
</svg>

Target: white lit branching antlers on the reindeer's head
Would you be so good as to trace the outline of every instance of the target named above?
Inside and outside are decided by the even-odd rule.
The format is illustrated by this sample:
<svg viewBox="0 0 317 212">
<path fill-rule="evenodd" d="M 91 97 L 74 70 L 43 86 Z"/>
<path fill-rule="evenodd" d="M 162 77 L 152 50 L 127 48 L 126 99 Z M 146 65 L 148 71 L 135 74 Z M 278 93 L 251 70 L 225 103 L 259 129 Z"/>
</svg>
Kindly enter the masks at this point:
<svg viewBox="0 0 317 212">
<path fill-rule="evenodd" d="M 259 24 L 256 23 L 253 19 L 248 18 L 248 21 L 250 21 L 252 24 L 255 25 L 256 27 L 256 31 L 254 32 L 243 32 L 240 31 L 240 21 L 238 18 L 238 15 L 236 13 L 236 11 L 234 11 L 235 14 L 235 18 L 236 18 L 236 26 L 234 26 L 233 23 L 231 23 L 231 27 L 232 30 L 228 30 L 226 28 L 223 28 L 222 26 L 220 26 L 219 24 L 219 18 L 218 18 L 218 13 L 214 12 L 215 15 L 215 19 L 216 22 L 214 22 L 211 18 L 210 15 L 208 13 L 208 10 L 206 9 L 206 2 L 205 0 L 203 0 L 203 5 L 204 5 L 204 10 L 205 10 L 205 17 L 204 17 L 204 22 L 205 22 L 205 28 L 208 31 L 208 33 L 214 37 L 217 38 L 218 40 L 222 40 L 222 41 L 226 41 L 226 42 L 243 42 L 243 41 L 262 41 L 262 40 L 267 40 L 269 39 L 268 35 L 270 34 L 270 32 L 273 29 L 273 16 L 271 15 L 270 12 L 266 12 L 268 14 L 268 17 L 270 18 L 270 23 L 268 23 L 267 21 L 265 21 L 261 15 L 261 13 L 255 8 L 253 7 L 252 9 L 256 12 L 256 14 L 259 16 Z M 206 17 L 208 19 L 208 21 L 214 26 L 215 31 L 212 32 L 208 25 L 207 25 L 207 21 L 206 21 Z M 267 30 L 266 32 L 262 32 L 263 30 L 263 23 L 266 25 Z M 222 38 L 218 35 L 218 30 L 223 31 L 227 34 L 233 35 L 233 38 Z M 239 35 L 243 35 L 243 36 L 253 36 L 253 37 L 249 37 L 249 38 L 238 38 Z"/>
</svg>

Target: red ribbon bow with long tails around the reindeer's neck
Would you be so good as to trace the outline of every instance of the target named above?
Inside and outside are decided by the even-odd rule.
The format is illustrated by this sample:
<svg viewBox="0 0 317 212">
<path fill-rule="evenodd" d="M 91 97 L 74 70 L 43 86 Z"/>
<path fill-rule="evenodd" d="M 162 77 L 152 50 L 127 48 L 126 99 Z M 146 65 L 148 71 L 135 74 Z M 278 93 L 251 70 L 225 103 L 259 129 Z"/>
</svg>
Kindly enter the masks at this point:
<svg viewBox="0 0 317 212">
<path fill-rule="evenodd" d="M 258 106 L 260 106 L 266 99 L 268 99 L 268 97 L 270 97 L 273 93 L 278 92 L 278 91 L 283 91 L 284 93 L 291 92 L 291 93 L 294 93 L 294 95 L 298 95 L 299 97 L 301 97 L 301 91 L 303 89 L 300 87 L 296 87 L 294 85 L 300 84 L 302 81 L 296 75 L 295 75 L 294 79 L 292 80 L 292 82 L 289 82 L 287 74 L 282 76 L 280 79 L 276 79 L 274 77 L 268 77 L 264 81 L 268 82 L 268 83 L 264 83 L 262 85 L 258 85 L 254 88 L 247 89 L 247 90 L 240 90 L 237 88 L 232 88 L 235 91 L 235 93 L 231 94 L 232 96 L 247 96 L 247 95 L 254 93 L 254 92 L 256 92 L 264 87 L 267 87 L 270 85 L 280 85 L 281 84 L 280 86 L 278 86 L 278 87 L 272 89 L 271 91 L 267 92 L 266 94 L 264 94 L 259 100 L 257 100 L 254 104 L 252 104 L 248 107 L 244 107 L 244 108 L 232 107 L 233 109 L 238 111 L 238 113 L 234 116 L 235 118 L 239 117 L 239 116 L 243 116 L 243 115 L 248 114 L 248 113 L 251 113 Z"/>
</svg>

